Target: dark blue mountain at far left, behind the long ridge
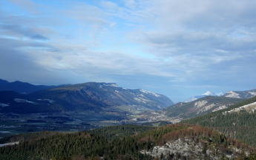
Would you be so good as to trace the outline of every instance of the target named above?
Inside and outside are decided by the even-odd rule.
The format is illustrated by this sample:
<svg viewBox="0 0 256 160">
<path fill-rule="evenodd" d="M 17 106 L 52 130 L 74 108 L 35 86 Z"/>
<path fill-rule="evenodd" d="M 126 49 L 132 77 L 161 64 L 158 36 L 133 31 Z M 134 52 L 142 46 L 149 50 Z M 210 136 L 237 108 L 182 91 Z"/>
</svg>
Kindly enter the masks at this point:
<svg viewBox="0 0 256 160">
<path fill-rule="evenodd" d="M 59 86 L 33 85 L 33 84 L 29 84 L 27 82 L 22 82 L 22 81 L 9 82 L 9 81 L 0 79 L 0 91 L 13 90 L 16 93 L 28 94 L 28 93 L 33 93 L 37 90 L 45 90 L 53 87 L 59 87 Z"/>
</svg>

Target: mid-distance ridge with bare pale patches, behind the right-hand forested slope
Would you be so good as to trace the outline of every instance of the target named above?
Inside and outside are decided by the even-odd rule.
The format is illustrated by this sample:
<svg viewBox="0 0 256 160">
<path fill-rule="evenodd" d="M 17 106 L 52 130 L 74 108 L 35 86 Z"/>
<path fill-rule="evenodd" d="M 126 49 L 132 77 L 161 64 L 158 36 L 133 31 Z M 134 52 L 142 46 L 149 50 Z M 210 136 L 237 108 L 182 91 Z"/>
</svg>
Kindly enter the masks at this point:
<svg viewBox="0 0 256 160">
<path fill-rule="evenodd" d="M 240 101 L 243 101 L 243 99 L 205 96 L 188 103 L 180 102 L 170 107 L 166 107 L 163 109 L 163 113 L 168 115 L 168 117 L 179 116 L 182 119 L 188 119 L 229 107 L 230 105 L 236 104 Z"/>
</svg>

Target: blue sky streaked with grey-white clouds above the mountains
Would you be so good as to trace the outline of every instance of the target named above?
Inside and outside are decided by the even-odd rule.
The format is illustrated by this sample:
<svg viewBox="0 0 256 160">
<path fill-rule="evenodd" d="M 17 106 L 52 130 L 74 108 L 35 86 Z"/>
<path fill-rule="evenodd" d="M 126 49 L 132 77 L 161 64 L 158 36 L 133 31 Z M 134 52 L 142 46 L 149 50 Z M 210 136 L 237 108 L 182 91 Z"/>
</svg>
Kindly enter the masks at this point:
<svg viewBox="0 0 256 160">
<path fill-rule="evenodd" d="M 172 101 L 256 87 L 255 0 L 0 0 L 0 79 Z"/>
</svg>

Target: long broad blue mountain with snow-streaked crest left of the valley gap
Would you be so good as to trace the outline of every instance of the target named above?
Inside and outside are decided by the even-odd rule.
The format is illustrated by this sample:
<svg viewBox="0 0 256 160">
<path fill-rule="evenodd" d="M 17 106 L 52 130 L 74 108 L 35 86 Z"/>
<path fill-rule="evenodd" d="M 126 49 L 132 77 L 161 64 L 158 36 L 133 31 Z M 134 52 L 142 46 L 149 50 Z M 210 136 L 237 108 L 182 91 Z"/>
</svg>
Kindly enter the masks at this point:
<svg viewBox="0 0 256 160">
<path fill-rule="evenodd" d="M 168 97 L 146 90 L 130 90 L 112 83 L 88 82 L 46 90 L 39 90 L 28 95 L 14 92 L 0 92 L 1 112 L 39 113 L 52 111 L 111 111 L 116 106 L 134 105 L 149 110 L 160 110 L 174 104 Z M 4 101 L 8 95 L 9 101 Z M 26 106 L 27 110 L 22 111 Z M 43 108 L 45 107 L 45 110 Z M 31 108 L 31 110 L 28 110 Z"/>
</svg>

